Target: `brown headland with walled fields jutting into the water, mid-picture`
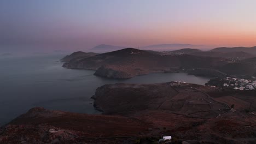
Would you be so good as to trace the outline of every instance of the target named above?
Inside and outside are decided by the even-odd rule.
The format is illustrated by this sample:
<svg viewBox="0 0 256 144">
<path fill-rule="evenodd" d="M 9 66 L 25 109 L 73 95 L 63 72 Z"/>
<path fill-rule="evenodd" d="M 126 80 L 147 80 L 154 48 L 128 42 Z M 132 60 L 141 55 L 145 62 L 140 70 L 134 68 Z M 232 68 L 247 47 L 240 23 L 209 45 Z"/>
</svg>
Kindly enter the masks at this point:
<svg viewBox="0 0 256 144">
<path fill-rule="evenodd" d="M 212 118 L 229 109 L 229 106 L 218 103 L 201 91 L 190 87 L 177 89 L 172 85 L 173 83 L 115 83 L 97 88 L 92 98 L 98 110 L 119 115 L 146 110 L 167 110 L 190 117 Z"/>
</svg>

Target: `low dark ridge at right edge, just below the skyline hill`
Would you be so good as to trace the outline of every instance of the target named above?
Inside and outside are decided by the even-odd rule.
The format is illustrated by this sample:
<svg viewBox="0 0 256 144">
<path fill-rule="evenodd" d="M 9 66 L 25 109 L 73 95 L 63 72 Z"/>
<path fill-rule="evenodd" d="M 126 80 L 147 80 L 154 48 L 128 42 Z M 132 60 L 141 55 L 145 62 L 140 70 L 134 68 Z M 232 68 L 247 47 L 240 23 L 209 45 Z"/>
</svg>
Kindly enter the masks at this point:
<svg viewBox="0 0 256 144">
<path fill-rule="evenodd" d="M 251 53 L 237 51 L 237 52 L 219 52 L 219 51 L 201 51 L 190 53 L 190 55 L 195 56 L 205 56 L 205 57 L 224 57 L 224 58 L 237 58 L 237 59 L 246 59 L 255 57 Z"/>
</svg>

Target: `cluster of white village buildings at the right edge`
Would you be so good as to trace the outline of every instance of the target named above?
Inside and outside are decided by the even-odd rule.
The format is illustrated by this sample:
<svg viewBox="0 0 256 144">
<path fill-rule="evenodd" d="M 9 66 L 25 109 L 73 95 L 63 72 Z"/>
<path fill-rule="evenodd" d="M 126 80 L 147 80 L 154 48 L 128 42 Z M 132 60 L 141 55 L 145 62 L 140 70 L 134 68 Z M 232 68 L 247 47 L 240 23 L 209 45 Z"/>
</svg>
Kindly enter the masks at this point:
<svg viewBox="0 0 256 144">
<path fill-rule="evenodd" d="M 230 87 L 240 91 L 256 89 L 256 81 L 231 77 L 226 77 L 226 80 L 229 80 L 229 83 L 224 83 L 223 87 Z"/>
</svg>

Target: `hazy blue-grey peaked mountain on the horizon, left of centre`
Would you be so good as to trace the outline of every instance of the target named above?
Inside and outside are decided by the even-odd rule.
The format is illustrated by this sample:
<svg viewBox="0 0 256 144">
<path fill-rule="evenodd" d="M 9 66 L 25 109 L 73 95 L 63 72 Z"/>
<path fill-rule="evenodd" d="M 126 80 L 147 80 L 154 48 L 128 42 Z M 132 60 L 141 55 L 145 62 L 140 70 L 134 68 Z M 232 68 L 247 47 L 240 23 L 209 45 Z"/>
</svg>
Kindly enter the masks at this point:
<svg viewBox="0 0 256 144">
<path fill-rule="evenodd" d="M 117 51 L 121 49 L 125 49 L 125 46 L 114 46 L 114 45 L 97 45 L 90 49 L 91 52 L 98 52 L 98 53 L 104 53 L 104 52 L 110 52 L 110 51 Z"/>
</svg>

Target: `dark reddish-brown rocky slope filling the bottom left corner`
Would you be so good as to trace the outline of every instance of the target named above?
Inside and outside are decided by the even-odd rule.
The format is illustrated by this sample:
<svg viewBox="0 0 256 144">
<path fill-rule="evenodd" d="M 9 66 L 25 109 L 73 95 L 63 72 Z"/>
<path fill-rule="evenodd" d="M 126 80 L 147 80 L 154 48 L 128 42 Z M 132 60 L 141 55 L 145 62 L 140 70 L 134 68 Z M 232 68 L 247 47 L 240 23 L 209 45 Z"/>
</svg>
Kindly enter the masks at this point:
<svg viewBox="0 0 256 144">
<path fill-rule="evenodd" d="M 135 118 L 35 107 L 0 128 L 0 143 L 120 143 L 149 127 Z"/>
</svg>

